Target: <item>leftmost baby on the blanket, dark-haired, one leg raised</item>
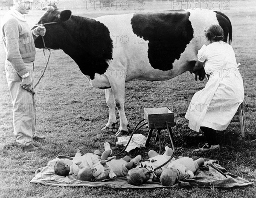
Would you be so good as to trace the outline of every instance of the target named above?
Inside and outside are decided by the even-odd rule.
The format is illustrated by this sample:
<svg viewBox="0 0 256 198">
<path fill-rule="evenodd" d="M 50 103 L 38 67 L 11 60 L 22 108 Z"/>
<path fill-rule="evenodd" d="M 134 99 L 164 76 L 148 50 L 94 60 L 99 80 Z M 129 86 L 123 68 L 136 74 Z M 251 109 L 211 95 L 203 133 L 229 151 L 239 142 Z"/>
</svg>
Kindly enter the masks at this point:
<svg viewBox="0 0 256 198">
<path fill-rule="evenodd" d="M 111 155 L 112 150 L 108 142 L 104 143 L 105 151 L 101 156 L 99 151 L 94 153 L 86 153 L 81 155 L 81 149 L 78 149 L 73 160 L 63 159 L 56 161 L 54 166 L 54 171 L 57 175 L 66 177 L 67 175 L 78 175 L 80 169 L 84 167 L 93 167 L 95 164 L 99 163 L 102 160 L 106 160 L 109 155 Z"/>
</svg>

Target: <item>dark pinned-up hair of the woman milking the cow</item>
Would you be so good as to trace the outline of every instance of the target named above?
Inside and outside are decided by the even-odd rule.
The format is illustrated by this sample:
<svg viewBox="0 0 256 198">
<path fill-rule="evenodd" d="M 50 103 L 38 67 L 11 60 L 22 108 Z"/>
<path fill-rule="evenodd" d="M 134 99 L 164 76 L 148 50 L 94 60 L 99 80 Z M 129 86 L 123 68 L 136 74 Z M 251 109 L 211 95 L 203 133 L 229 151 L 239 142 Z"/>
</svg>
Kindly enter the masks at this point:
<svg viewBox="0 0 256 198">
<path fill-rule="evenodd" d="M 204 30 L 204 35 L 211 41 L 211 42 L 218 42 L 224 39 L 224 32 L 221 26 L 217 24 L 213 24 L 207 27 Z"/>
</svg>

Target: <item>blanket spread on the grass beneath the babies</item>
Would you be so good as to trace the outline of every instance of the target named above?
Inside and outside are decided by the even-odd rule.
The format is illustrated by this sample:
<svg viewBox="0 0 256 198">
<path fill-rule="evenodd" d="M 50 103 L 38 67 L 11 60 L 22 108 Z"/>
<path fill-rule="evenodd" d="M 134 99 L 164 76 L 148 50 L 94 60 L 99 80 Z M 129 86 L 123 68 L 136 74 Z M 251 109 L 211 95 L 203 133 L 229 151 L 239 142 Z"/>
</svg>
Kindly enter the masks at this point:
<svg viewBox="0 0 256 198">
<path fill-rule="evenodd" d="M 58 156 L 59 157 L 59 156 Z M 30 183 L 44 184 L 49 186 L 64 186 L 64 187 L 108 187 L 108 188 L 174 188 L 174 187 L 219 187 L 219 188 L 231 188 L 242 187 L 252 185 L 249 182 L 239 176 L 233 175 L 226 169 L 218 164 L 217 160 L 210 160 L 205 162 L 204 166 L 199 167 L 195 176 L 192 179 L 181 180 L 178 184 L 172 187 L 164 187 L 158 182 L 148 182 L 141 186 L 133 186 L 127 183 L 126 178 L 112 178 L 104 181 L 79 181 L 76 175 L 68 175 L 67 177 L 58 176 L 54 172 L 55 162 L 60 158 L 56 158 L 49 161 L 47 166 L 39 168 L 35 171 L 35 177 L 32 178 Z M 63 156 L 62 156 L 63 158 Z M 212 166 L 213 165 L 213 166 Z M 217 167 L 217 169 L 216 169 Z M 220 173 L 222 172 L 222 174 Z M 224 175 L 226 175 L 226 177 Z"/>
</svg>

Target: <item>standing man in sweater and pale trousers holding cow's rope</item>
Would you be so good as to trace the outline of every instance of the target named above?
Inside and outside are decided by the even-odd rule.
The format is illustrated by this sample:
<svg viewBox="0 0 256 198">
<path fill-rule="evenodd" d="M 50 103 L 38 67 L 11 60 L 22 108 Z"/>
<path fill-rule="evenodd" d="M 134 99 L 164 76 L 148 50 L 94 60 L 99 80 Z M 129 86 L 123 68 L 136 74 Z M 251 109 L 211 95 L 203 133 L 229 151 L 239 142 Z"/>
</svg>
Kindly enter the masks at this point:
<svg viewBox="0 0 256 198">
<path fill-rule="evenodd" d="M 29 28 L 25 14 L 32 8 L 32 0 L 15 0 L 15 6 L 6 13 L 2 21 L 3 42 L 6 51 L 6 78 L 12 97 L 15 145 L 24 151 L 39 149 L 32 140 L 45 137 L 35 135 L 35 109 L 33 107 L 33 68 L 35 60 L 34 40 L 44 36 L 43 26 Z"/>
</svg>

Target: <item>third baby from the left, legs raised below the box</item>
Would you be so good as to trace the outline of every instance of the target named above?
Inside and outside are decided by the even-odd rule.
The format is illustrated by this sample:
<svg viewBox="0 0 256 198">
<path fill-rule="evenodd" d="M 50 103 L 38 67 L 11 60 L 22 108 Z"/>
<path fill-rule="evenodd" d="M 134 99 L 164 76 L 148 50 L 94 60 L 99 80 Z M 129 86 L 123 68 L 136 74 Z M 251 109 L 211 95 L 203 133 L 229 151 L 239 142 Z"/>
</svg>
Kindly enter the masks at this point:
<svg viewBox="0 0 256 198">
<path fill-rule="evenodd" d="M 165 153 L 163 155 L 158 155 L 157 152 L 150 150 L 148 152 L 149 161 L 141 162 L 140 166 L 137 166 L 134 169 L 128 171 L 127 174 L 127 183 L 135 186 L 139 186 L 146 181 L 160 181 L 160 173 L 162 171 L 157 170 L 154 172 L 153 170 L 158 166 L 164 164 L 168 161 L 173 154 L 173 150 L 168 146 L 165 147 Z M 171 160 L 174 161 L 175 158 Z M 170 162 L 168 163 L 170 164 Z M 168 164 L 163 166 L 163 168 L 167 168 Z M 152 172 L 149 172 L 151 171 Z"/>
</svg>

